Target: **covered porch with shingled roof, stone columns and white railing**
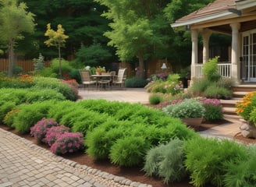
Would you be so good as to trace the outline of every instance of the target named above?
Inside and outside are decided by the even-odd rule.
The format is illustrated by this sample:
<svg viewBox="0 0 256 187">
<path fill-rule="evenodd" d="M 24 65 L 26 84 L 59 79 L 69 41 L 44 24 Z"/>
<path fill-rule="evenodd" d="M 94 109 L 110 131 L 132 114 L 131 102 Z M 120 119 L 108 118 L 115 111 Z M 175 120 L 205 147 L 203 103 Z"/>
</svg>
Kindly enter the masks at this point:
<svg viewBox="0 0 256 187">
<path fill-rule="evenodd" d="M 219 62 L 222 77 L 236 85 L 256 83 L 256 1 L 216 0 L 202 9 L 176 20 L 172 27 L 184 26 L 191 32 L 191 79 L 202 76 L 209 59 L 209 39 L 213 33 L 232 37 L 228 62 Z M 203 41 L 202 63 L 198 62 L 198 37 Z"/>
</svg>

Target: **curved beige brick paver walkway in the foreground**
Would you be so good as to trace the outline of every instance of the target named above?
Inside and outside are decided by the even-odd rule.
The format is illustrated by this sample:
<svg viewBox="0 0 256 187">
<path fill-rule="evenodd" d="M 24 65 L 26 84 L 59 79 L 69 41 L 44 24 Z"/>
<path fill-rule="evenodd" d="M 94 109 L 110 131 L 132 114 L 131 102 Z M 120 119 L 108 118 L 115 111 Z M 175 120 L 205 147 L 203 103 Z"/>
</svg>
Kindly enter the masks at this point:
<svg viewBox="0 0 256 187">
<path fill-rule="evenodd" d="M 0 187 L 150 187 L 56 156 L 0 129 Z"/>
</svg>

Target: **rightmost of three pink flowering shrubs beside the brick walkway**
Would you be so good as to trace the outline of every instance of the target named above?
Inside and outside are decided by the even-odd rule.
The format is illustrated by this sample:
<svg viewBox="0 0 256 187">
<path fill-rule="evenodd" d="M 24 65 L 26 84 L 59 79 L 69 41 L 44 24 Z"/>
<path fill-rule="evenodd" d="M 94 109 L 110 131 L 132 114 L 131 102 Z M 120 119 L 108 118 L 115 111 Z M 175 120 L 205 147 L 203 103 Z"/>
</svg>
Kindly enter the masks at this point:
<svg viewBox="0 0 256 187">
<path fill-rule="evenodd" d="M 84 148 L 83 134 L 80 132 L 64 132 L 51 146 L 52 153 L 73 153 Z"/>
</svg>

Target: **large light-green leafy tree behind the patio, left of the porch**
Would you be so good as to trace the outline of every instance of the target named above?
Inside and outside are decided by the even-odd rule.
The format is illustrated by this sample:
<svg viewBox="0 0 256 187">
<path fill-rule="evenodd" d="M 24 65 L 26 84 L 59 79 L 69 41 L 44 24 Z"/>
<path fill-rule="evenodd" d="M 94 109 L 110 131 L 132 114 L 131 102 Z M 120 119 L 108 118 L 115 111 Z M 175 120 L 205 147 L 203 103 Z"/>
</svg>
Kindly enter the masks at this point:
<svg viewBox="0 0 256 187">
<path fill-rule="evenodd" d="M 108 7 L 108 12 L 102 14 L 112 20 L 109 24 L 112 30 L 105 32 L 105 36 L 110 39 L 108 44 L 116 48 L 121 61 L 137 57 L 140 71 L 137 75 L 144 78 L 144 60 L 160 55 L 159 51 L 165 49 L 169 40 L 169 36 L 165 34 L 169 24 L 162 12 L 169 1 L 94 1 Z"/>
</svg>

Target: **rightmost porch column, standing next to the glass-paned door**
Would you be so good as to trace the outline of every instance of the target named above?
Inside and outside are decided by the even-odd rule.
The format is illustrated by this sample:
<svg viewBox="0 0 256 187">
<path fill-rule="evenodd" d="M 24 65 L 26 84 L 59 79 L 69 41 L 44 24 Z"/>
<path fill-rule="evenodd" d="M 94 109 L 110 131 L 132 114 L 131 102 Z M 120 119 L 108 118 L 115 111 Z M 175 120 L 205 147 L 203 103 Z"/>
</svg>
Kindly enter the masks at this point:
<svg viewBox="0 0 256 187">
<path fill-rule="evenodd" d="M 232 28 L 232 47 L 231 47 L 231 78 L 236 85 L 240 84 L 240 23 L 231 23 Z"/>
</svg>

